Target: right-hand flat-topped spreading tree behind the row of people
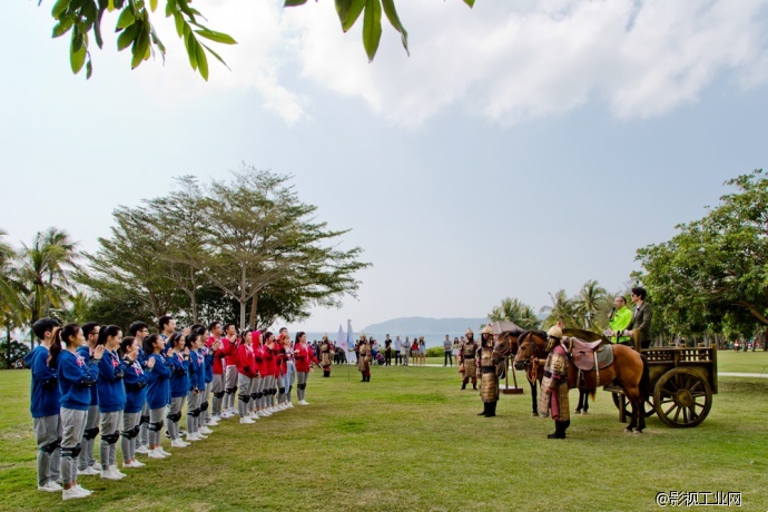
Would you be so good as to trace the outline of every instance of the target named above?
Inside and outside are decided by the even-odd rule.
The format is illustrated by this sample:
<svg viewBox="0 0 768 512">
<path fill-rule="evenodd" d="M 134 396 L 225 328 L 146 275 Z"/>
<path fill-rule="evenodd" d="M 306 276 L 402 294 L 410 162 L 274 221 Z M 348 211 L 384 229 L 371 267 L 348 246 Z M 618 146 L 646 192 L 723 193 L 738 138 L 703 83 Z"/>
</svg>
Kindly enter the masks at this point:
<svg viewBox="0 0 768 512">
<path fill-rule="evenodd" d="M 362 250 L 332 245 L 346 230 L 316 223 L 317 207 L 298 200 L 288 176 L 244 167 L 233 181 L 214 181 L 203 200 L 205 250 L 189 263 L 239 305 L 240 327 L 256 324 L 259 294 L 298 294 L 305 304 L 335 304 L 357 291 L 354 273 L 370 266 Z"/>
</svg>

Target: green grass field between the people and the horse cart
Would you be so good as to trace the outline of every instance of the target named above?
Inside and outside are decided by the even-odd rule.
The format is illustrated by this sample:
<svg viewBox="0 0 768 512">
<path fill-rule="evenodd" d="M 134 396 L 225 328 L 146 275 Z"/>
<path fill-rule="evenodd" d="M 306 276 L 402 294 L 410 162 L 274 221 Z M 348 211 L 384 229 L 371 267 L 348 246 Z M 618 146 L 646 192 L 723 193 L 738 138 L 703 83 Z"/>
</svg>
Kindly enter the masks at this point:
<svg viewBox="0 0 768 512">
<path fill-rule="evenodd" d="M 719 356 L 723 372 L 768 363 Z M 700 426 L 652 416 L 639 436 L 600 391 L 565 441 L 545 439 L 552 421 L 531 417 L 528 390 L 503 395 L 498 417 L 476 416 L 480 398 L 460 391 L 455 368 L 374 367 L 358 381 L 354 367 L 348 380 L 345 366 L 313 373 L 308 407 L 224 421 L 122 481 L 81 477 L 96 493 L 62 502 L 36 490 L 29 373 L 0 372 L 0 510 L 644 511 L 670 491 L 740 492 L 740 510 L 768 510 L 768 378 L 721 377 Z"/>
</svg>

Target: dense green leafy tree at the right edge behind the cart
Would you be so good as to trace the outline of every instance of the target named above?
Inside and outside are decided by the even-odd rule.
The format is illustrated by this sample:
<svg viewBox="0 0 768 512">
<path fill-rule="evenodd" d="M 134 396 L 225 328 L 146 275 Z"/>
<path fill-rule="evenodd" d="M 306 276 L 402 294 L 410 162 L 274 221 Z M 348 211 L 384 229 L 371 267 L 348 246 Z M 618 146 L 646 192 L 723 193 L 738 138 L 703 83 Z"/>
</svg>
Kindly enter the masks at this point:
<svg viewBox="0 0 768 512">
<path fill-rule="evenodd" d="M 679 332 L 749 332 L 768 325 L 768 177 L 726 181 L 735 191 L 668 242 L 638 250 L 640 279 Z"/>
</svg>

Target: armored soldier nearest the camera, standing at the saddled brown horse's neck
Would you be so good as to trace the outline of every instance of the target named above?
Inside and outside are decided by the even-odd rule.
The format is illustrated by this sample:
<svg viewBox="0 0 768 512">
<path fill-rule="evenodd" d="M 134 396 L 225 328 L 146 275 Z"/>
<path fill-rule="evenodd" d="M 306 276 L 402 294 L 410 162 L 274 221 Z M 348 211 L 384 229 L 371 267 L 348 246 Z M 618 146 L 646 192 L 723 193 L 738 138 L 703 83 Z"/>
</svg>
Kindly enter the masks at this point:
<svg viewBox="0 0 768 512">
<path fill-rule="evenodd" d="M 563 332 L 559 326 L 547 332 L 547 363 L 544 378 L 541 382 L 543 393 L 539 394 L 539 414 L 552 414 L 554 432 L 549 439 L 564 440 L 565 430 L 571 425 L 570 404 L 568 402 L 568 352 L 562 346 Z"/>
</svg>

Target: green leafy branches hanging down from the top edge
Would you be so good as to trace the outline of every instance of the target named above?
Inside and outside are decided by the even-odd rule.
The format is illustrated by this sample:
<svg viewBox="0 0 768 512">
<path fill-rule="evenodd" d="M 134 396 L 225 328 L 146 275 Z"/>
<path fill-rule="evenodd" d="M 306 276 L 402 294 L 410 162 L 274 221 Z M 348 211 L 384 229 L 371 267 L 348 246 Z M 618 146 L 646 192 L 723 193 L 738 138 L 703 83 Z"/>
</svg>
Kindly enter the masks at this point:
<svg viewBox="0 0 768 512">
<path fill-rule="evenodd" d="M 42 1 L 42 0 L 40 0 Z M 349 30 L 363 16 L 363 47 L 373 60 L 378 49 L 382 36 L 382 11 L 394 29 L 400 32 L 401 41 L 407 52 L 408 36 L 405 27 L 397 16 L 395 0 L 334 0 L 336 12 L 342 24 L 342 30 Z M 474 0 L 463 0 L 472 7 Z M 285 0 L 285 7 L 302 6 L 307 0 Z M 184 40 L 189 65 L 199 71 L 200 76 L 208 79 L 208 57 L 210 55 L 226 66 L 221 57 L 211 49 L 210 41 L 223 45 L 236 45 L 228 35 L 217 32 L 203 24 L 205 17 L 194 7 L 191 0 L 57 0 L 51 9 L 51 16 L 56 20 L 52 37 L 58 38 L 70 35 L 69 62 L 72 72 L 78 73 L 86 68 L 86 76 L 90 78 L 93 66 L 89 49 L 90 39 L 102 48 L 101 19 L 105 12 L 116 12 L 116 31 L 119 51 L 130 47 L 131 69 L 149 59 L 156 52 L 165 59 L 166 48 L 163 45 L 151 17 L 157 16 L 158 4 L 165 4 L 166 18 L 174 18 L 176 32 Z M 207 41 L 207 43 L 206 43 Z M 206 55 L 207 53 L 207 55 Z"/>
</svg>

